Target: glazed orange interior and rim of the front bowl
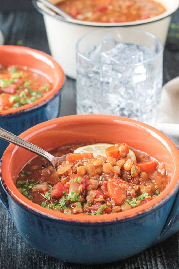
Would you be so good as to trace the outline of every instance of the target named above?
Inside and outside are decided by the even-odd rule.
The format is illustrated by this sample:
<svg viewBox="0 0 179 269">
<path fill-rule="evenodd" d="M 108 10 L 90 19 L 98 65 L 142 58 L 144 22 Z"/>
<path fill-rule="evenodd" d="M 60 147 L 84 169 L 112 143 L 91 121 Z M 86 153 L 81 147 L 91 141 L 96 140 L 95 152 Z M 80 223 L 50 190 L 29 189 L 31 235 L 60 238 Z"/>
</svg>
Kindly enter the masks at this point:
<svg viewBox="0 0 179 269">
<path fill-rule="evenodd" d="M 48 214 L 51 217 L 81 222 L 112 221 L 133 217 L 156 206 L 156 204 L 162 203 L 161 200 L 167 199 L 177 187 L 179 178 L 179 154 L 177 147 L 160 131 L 131 119 L 106 115 L 66 116 L 36 125 L 22 133 L 20 137 L 45 150 L 76 141 L 127 143 L 130 147 L 146 152 L 159 162 L 165 163 L 170 183 L 159 196 L 149 203 L 125 212 L 110 215 L 93 217 L 68 215 L 42 208 L 25 198 L 17 190 L 14 184 L 17 174 L 35 154 L 10 144 L 2 157 L 1 163 L 2 180 L 4 180 L 8 192 L 26 207 L 37 212 L 40 211 L 42 214 Z"/>
</svg>

